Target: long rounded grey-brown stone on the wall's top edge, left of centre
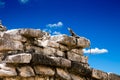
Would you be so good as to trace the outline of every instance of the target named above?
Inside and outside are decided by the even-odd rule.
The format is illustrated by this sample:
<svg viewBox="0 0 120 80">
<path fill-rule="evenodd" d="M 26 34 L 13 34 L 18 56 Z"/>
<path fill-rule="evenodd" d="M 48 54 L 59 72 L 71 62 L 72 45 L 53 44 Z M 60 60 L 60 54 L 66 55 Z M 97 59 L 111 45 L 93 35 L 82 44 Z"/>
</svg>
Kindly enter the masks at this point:
<svg viewBox="0 0 120 80">
<path fill-rule="evenodd" d="M 21 29 L 19 30 L 19 33 L 25 37 L 35 37 L 35 38 L 41 38 L 45 34 L 45 32 L 42 32 L 37 29 Z"/>
</svg>

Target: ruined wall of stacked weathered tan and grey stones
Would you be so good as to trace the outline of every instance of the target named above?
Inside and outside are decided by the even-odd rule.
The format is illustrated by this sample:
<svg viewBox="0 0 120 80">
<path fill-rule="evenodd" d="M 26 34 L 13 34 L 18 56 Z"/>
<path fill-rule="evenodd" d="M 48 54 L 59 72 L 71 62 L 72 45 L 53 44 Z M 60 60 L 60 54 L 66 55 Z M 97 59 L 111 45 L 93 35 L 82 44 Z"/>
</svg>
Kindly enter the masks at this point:
<svg viewBox="0 0 120 80">
<path fill-rule="evenodd" d="M 0 32 L 0 80 L 120 80 L 89 67 L 90 41 L 35 29 Z"/>
</svg>

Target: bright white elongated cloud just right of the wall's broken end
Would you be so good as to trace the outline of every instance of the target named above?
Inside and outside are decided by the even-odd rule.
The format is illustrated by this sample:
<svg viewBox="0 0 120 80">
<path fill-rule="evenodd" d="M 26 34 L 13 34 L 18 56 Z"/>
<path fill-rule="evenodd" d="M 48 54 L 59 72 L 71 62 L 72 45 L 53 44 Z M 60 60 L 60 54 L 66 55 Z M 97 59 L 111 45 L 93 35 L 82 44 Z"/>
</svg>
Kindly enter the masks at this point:
<svg viewBox="0 0 120 80">
<path fill-rule="evenodd" d="M 107 53 L 107 49 L 99 49 L 99 48 L 93 48 L 93 49 L 83 49 L 84 53 L 91 53 L 91 54 L 102 54 L 102 53 Z"/>
</svg>

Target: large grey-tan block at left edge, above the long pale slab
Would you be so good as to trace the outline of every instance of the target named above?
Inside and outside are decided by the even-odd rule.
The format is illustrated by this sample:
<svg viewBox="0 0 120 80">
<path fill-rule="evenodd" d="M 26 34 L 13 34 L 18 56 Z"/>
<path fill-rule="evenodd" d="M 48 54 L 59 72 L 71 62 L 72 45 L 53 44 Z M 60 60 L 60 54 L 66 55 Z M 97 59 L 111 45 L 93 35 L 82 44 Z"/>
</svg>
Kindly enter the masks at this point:
<svg viewBox="0 0 120 80">
<path fill-rule="evenodd" d="M 0 38 L 0 51 L 23 50 L 23 44 L 20 41 Z"/>
</svg>

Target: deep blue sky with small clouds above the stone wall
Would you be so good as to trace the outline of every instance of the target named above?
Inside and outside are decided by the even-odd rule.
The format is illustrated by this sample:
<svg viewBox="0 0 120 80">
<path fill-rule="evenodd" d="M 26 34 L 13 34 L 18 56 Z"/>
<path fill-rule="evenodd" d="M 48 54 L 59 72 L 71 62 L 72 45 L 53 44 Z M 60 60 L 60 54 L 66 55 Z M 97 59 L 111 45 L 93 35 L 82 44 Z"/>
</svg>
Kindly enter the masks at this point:
<svg viewBox="0 0 120 80">
<path fill-rule="evenodd" d="M 91 41 L 91 67 L 120 74 L 119 0 L 0 0 L 8 29 L 36 28 L 68 34 L 67 27 Z"/>
</svg>

